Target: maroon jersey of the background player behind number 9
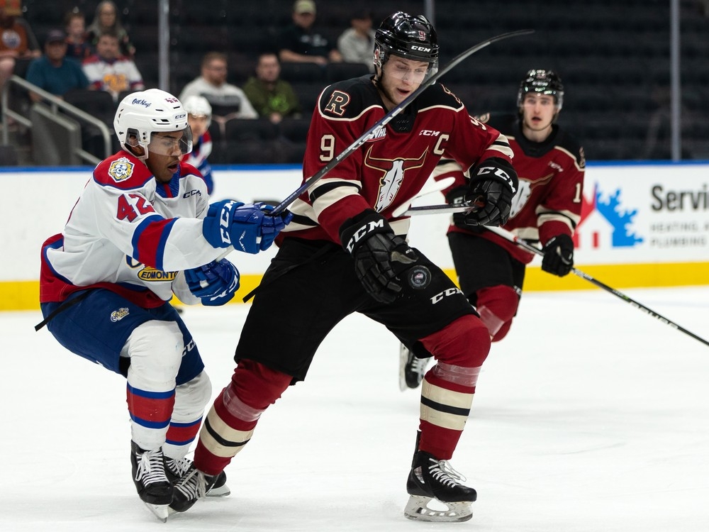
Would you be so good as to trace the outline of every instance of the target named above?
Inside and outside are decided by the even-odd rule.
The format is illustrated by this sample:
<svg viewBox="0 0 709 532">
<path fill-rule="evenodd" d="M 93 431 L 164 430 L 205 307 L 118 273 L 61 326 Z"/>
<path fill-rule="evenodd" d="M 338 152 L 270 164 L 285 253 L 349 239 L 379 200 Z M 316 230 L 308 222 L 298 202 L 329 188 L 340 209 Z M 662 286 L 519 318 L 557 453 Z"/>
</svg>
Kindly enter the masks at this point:
<svg viewBox="0 0 709 532">
<path fill-rule="evenodd" d="M 519 238 L 540 240 L 542 244 L 561 233 L 574 235 L 576 224 L 581 220 L 586 170 L 584 149 L 557 124 L 552 126 L 552 134 L 544 142 L 535 143 L 522 134 L 516 115 L 485 115 L 479 119 L 498 128 L 508 138 L 515 154 L 513 165 L 520 184 L 512 202 L 510 219 L 503 228 Z M 456 177 L 454 187 L 464 183 L 464 176 L 454 165 L 440 165 L 437 177 L 446 175 Z M 467 232 L 457 226 L 451 226 L 450 231 Z M 474 233 L 503 246 L 525 264 L 534 257 L 490 231 Z"/>
</svg>

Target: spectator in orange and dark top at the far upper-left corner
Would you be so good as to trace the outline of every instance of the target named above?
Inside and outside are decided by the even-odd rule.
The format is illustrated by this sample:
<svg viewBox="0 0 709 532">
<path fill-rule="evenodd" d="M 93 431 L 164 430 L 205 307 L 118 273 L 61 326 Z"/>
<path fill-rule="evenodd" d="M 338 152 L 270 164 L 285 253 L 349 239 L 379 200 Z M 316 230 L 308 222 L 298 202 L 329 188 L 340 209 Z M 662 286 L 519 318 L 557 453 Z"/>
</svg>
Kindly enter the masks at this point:
<svg viewBox="0 0 709 532">
<path fill-rule="evenodd" d="M 15 72 L 18 59 L 42 55 L 40 45 L 22 18 L 20 0 L 0 0 L 0 88 Z"/>
</svg>

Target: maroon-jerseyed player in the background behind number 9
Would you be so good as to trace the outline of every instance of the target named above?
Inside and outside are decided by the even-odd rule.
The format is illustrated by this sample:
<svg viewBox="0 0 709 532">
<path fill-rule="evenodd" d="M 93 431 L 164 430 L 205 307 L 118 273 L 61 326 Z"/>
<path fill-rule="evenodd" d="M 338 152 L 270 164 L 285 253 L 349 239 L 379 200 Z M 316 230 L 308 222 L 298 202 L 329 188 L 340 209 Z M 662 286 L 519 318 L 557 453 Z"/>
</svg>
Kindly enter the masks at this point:
<svg viewBox="0 0 709 532">
<path fill-rule="evenodd" d="M 480 117 L 510 140 L 520 186 L 510 219 L 503 225 L 519 238 L 540 242 L 545 252 L 542 270 L 559 277 L 574 266 L 574 235 L 581 219 L 581 192 L 586 160 L 584 150 L 557 124 L 564 87 L 552 70 L 532 69 L 520 83 L 516 115 Z M 447 201 L 462 201 L 465 177 L 454 162 L 443 160 L 437 177 L 453 176 L 457 183 Z M 525 266 L 534 255 L 484 228 L 470 226 L 464 216 L 453 216 L 448 240 L 460 288 L 476 306 L 493 342 L 502 340 L 517 314 Z M 416 358 L 402 344 L 401 379 L 418 387 L 427 358 Z"/>
</svg>

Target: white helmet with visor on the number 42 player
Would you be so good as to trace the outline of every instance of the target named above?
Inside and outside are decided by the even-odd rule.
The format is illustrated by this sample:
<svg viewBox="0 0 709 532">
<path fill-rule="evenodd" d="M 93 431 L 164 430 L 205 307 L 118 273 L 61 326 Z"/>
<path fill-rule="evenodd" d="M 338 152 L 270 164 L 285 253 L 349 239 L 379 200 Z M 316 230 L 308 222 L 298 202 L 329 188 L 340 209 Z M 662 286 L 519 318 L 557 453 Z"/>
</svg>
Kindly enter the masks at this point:
<svg viewBox="0 0 709 532">
<path fill-rule="evenodd" d="M 187 122 L 187 111 L 180 101 L 169 92 L 160 89 L 147 89 L 146 91 L 133 92 L 125 96 L 113 118 L 113 129 L 116 130 L 121 148 L 128 151 L 128 145 L 140 146 L 145 150 L 141 159 L 147 159 L 147 146 L 150 144 L 152 133 L 182 131 L 178 145 L 182 154 L 192 151 L 192 131 Z M 160 155 L 169 144 L 153 145 L 152 151 Z M 174 150 L 172 150 L 174 152 Z"/>
</svg>

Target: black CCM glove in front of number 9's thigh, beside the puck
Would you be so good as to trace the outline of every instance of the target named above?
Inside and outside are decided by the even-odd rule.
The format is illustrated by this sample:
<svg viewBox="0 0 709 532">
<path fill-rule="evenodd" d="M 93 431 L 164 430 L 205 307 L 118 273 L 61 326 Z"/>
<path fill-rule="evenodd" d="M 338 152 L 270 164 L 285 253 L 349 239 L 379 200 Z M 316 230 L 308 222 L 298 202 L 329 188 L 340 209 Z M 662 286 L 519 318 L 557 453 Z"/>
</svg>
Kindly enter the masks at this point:
<svg viewBox="0 0 709 532">
<path fill-rule="evenodd" d="M 370 296 L 391 303 L 401 292 L 397 275 L 408 270 L 418 255 L 397 236 L 384 216 L 371 209 L 347 218 L 340 226 L 342 248 L 354 257 L 354 271 Z"/>
</svg>

